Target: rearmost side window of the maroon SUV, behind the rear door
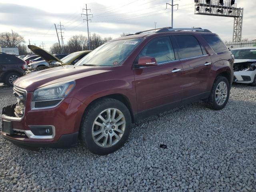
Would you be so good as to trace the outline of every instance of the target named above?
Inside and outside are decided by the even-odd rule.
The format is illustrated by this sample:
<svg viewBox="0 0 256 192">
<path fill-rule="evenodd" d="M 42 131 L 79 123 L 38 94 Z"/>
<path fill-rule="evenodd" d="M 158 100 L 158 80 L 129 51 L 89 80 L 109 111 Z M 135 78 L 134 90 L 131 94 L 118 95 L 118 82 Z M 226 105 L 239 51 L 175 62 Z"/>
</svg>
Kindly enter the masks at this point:
<svg viewBox="0 0 256 192">
<path fill-rule="evenodd" d="M 220 38 L 217 35 L 202 35 L 203 38 L 208 42 L 208 44 L 211 46 L 211 48 L 216 52 L 217 54 L 228 51 L 228 48 L 226 45 L 220 40 Z"/>
</svg>

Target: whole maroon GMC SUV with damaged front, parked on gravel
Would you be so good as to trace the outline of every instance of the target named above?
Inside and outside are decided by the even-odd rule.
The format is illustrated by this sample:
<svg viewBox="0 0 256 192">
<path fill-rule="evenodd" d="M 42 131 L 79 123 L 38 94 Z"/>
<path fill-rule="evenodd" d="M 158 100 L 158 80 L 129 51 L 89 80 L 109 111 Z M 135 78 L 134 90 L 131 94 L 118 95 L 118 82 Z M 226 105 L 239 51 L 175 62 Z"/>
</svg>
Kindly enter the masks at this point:
<svg viewBox="0 0 256 192">
<path fill-rule="evenodd" d="M 102 155 L 120 148 L 131 124 L 147 116 L 198 100 L 213 110 L 226 106 L 234 56 L 218 35 L 144 32 L 106 42 L 75 66 L 16 80 L 18 102 L 3 108 L 2 136 L 33 147 L 73 146 L 79 136 Z"/>
</svg>

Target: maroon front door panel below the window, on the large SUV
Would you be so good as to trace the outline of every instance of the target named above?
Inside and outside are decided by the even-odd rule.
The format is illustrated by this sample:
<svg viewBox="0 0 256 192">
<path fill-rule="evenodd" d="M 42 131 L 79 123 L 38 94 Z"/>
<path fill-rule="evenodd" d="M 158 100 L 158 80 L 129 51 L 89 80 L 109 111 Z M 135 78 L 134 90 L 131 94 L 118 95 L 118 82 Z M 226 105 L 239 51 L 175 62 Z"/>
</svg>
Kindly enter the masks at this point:
<svg viewBox="0 0 256 192">
<path fill-rule="evenodd" d="M 171 72 L 181 69 L 179 72 Z M 179 61 L 134 70 L 138 112 L 181 102 L 182 64 Z"/>
</svg>

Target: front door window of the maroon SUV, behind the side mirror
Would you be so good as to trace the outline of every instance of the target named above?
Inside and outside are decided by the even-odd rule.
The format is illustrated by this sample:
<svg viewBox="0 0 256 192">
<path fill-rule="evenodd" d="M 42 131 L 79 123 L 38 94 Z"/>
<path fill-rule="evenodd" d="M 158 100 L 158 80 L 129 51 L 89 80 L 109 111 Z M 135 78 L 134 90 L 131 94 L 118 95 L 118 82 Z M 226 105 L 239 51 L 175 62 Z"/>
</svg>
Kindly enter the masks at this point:
<svg viewBox="0 0 256 192">
<path fill-rule="evenodd" d="M 150 41 L 136 58 L 136 63 L 140 57 L 151 56 L 158 64 L 175 60 L 174 50 L 169 37 L 161 37 Z"/>
</svg>

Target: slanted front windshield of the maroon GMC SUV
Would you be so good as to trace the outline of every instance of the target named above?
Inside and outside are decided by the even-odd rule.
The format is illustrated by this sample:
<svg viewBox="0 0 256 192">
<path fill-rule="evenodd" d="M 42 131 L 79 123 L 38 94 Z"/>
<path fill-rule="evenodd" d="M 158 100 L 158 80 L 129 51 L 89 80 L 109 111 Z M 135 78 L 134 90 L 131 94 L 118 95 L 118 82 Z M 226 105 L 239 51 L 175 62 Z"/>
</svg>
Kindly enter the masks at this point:
<svg viewBox="0 0 256 192">
<path fill-rule="evenodd" d="M 143 38 L 106 42 L 86 55 L 75 65 L 120 66 Z"/>
</svg>

